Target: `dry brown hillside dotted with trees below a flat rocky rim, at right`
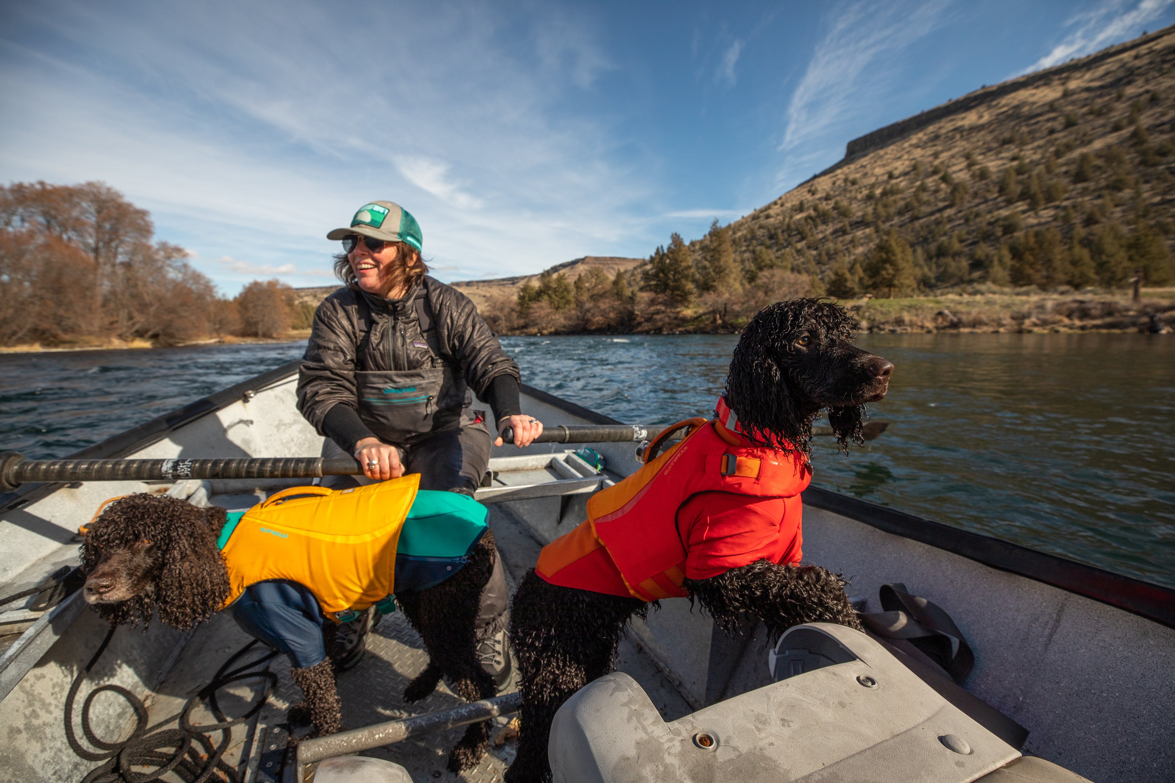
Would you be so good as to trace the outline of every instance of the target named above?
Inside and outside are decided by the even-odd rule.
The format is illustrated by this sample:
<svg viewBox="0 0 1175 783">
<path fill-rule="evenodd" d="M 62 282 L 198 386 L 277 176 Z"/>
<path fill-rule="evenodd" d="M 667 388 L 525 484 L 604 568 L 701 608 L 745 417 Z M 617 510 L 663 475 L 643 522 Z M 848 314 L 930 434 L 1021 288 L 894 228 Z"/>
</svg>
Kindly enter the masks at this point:
<svg viewBox="0 0 1175 783">
<path fill-rule="evenodd" d="M 732 223 L 746 281 L 830 293 L 1175 278 L 1175 28 L 985 87 L 853 140 L 846 157 Z M 705 272 L 716 231 L 690 243 Z M 711 275 L 713 277 L 713 275 Z"/>
</svg>

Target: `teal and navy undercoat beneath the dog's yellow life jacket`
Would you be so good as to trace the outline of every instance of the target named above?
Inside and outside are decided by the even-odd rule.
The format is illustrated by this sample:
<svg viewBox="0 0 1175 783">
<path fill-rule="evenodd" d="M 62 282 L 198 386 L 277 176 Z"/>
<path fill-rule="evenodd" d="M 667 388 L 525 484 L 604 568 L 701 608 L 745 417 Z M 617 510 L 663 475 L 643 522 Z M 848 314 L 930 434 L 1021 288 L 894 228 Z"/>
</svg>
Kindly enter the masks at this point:
<svg viewBox="0 0 1175 783">
<path fill-rule="evenodd" d="M 222 549 L 246 513 L 228 515 L 217 542 Z M 461 571 L 485 533 L 488 515 L 488 509 L 468 495 L 419 491 L 396 544 L 396 593 L 423 590 Z M 392 595 L 375 606 L 383 614 L 396 610 Z M 327 659 L 322 629 L 328 622 L 357 616 L 338 612 L 331 619 L 323 612 L 313 585 L 288 579 L 249 585 L 229 609 L 244 633 L 284 653 L 294 668 L 316 666 Z"/>
</svg>

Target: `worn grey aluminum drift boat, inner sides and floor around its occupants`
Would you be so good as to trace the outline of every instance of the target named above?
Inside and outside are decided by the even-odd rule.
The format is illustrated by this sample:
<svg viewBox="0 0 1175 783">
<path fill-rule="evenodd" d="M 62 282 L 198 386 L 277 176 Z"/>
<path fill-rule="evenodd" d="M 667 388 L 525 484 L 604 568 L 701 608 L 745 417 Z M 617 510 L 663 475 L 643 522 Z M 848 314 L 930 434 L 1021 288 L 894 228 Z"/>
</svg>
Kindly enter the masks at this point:
<svg viewBox="0 0 1175 783">
<path fill-rule="evenodd" d="M 322 439 L 294 407 L 295 383 L 291 363 L 74 457 L 317 457 Z M 523 407 L 548 426 L 616 424 L 529 387 Z M 592 492 L 638 467 L 632 444 L 590 445 L 606 461 L 603 472 L 576 458 L 575 446 L 495 450 L 508 457 L 491 463 L 497 477 L 481 494 L 492 504 L 491 526 L 511 587 L 533 565 L 542 544 L 584 518 Z M 304 482 L 25 485 L 0 498 L 0 596 L 52 582 L 63 566 L 75 565 L 78 526 L 112 497 L 159 492 L 246 508 Z M 1175 707 L 1175 592 L 819 488 L 808 490 L 804 500 L 806 558 L 851 575 L 851 594 L 871 602 L 870 610 L 880 608 L 878 589 L 888 582 L 905 582 L 946 609 L 975 652 L 975 667 L 964 686 L 1029 730 L 1025 754 L 1099 783 L 1175 775 L 1175 724 L 1169 717 Z M 76 593 L 58 600 L 66 589 L 0 606 L 0 781 L 81 779 L 99 762 L 78 755 L 72 744 L 100 755 L 85 738 L 80 716 L 80 706 L 96 686 L 122 686 L 145 701 L 148 722 L 155 723 L 177 713 L 248 641 L 224 614 L 188 634 L 157 622 L 146 634 L 120 628 L 80 687 L 70 740 L 63 703 L 107 628 L 83 610 Z M 691 612 L 687 601 L 666 601 L 660 612 L 650 613 L 647 623 L 633 625 L 620 653 L 624 674 L 612 676 L 629 675 L 659 718 L 669 722 L 665 725 L 685 725 L 771 688 L 811 687 L 815 680 L 806 677 L 820 675 L 817 670 L 771 684 L 764 630 L 748 625 L 748 634 L 750 641 L 728 640 L 714 632 L 709 617 Z M 854 654 L 861 659 L 870 653 Z M 419 704 L 401 702 L 404 684 L 423 664 L 419 640 L 403 616 L 385 617 L 364 662 L 340 676 L 348 728 L 459 707 L 463 702 L 444 688 Z M 291 779 L 295 765 L 284 750 L 284 709 L 297 697 L 296 689 L 282 659 L 260 668 L 273 673 L 276 689 L 250 720 L 227 729 L 223 761 L 244 779 Z M 582 691 L 585 697 L 588 690 Z M 243 715 L 261 694 L 257 681 L 233 683 L 221 691 L 220 708 L 229 716 Z M 803 715 L 787 717 L 804 721 Z M 497 720 L 504 727 L 508 717 Z M 193 721 L 207 724 L 216 718 L 200 713 Z M 87 724 L 96 737 L 114 740 L 129 735 L 135 720 L 123 700 L 100 694 L 89 706 Z M 459 734 L 450 729 L 408 736 L 367 755 L 402 764 L 414 779 L 437 779 L 432 775 L 443 770 Z M 219 747 L 221 733 L 214 731 L 213 738 Z M 728 747 L 718 743 L 719 749 Z M 509 743 L 495 747 L 463 778 L 495 779 L 510 760 Z M 780 778 L 772 774 L 771 779 Z"/>
</svg>

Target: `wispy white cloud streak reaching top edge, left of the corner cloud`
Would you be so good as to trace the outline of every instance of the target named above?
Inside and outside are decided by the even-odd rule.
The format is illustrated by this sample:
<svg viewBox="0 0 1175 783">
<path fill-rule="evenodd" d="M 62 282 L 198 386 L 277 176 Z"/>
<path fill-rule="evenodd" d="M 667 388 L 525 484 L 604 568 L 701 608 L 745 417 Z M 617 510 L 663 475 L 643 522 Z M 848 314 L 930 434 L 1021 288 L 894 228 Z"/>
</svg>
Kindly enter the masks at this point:
<svg viewBox="0 0 1175 783">
<path fill-rule="evenodd" d="M 945 0 L 841 2 L 827 12 L 826 32 L 787 106 L 780 181 L 812 174 L 813 162 L 827 156 L 830 129 L 885 100 L 901 50 L 934 29 L 945 7 Z M 844 143 L 835 137 L 833 146 Z"/>
</svg>

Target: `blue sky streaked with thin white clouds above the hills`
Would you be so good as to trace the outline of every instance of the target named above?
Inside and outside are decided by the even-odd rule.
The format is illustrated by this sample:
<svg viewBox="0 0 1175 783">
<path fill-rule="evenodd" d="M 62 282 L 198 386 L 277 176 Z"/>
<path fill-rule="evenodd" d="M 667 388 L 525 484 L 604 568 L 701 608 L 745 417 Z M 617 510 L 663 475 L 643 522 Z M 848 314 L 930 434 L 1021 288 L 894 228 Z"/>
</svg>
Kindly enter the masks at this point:
<svg viewBox="0 0 1175 783">
<path fill-rule="evenodd" d="M 442 281 L 647 256 L 1173 2 L 5 2 L 0 182 L 105 181 L 228 295 L 375 198 Z"/>
</svg>

